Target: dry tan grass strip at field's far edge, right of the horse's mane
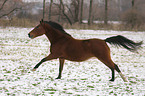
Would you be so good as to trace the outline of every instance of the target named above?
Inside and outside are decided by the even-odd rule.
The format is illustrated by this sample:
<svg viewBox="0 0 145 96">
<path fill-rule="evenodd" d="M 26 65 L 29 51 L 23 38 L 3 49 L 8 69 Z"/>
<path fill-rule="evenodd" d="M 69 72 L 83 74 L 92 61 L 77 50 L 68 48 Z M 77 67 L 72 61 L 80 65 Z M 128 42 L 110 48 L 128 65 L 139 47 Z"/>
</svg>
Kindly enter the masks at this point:
<svg viewBox="0 0 145 96">
<path fill-rule="evenodd" d="M 131 26 L 127 26 L 125 24 L 108 24 L 105 25 L 103 23 L 98 23 L 98 24 L 62 24 L 64 28 L 66 29 L 92 29 L 92 30 L 127 30 L 127 31 L 145 31 L 145 24 L 140 25 L 140 26 L 135 26 L 132 28 Z"/>
</svg>

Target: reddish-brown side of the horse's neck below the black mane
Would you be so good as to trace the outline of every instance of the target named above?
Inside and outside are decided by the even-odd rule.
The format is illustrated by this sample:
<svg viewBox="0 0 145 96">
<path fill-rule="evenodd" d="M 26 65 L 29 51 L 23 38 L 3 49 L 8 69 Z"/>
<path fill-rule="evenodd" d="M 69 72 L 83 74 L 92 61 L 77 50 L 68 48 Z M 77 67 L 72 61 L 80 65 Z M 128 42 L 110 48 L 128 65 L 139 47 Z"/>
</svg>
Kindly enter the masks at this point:
<svg viewBox="0 0 145 96">
<path fill-rule="evenodd" d="M 57 30 L 46 31 L 45 35 L 51 44 L 56 43 L 61 37 L 64 36 L 63 33 L 58 32 Z"/>
</svg>

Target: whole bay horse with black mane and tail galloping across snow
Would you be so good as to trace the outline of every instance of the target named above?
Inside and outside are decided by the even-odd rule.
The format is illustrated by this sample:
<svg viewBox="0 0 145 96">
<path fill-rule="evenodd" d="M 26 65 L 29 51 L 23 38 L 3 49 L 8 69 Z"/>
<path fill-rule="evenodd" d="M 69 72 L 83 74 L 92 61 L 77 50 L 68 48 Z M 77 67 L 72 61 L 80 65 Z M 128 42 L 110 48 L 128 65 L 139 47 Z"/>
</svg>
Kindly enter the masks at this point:
<svg viewBox="0 0 145 96">
<path fill-rule="evenodd" d="M 106 38 L 105 40 L 78 40 L 73 38 L 70 34 L 66 33 L 60 24 L 43 20 L 40 21 L 40 24 L 36 26 L 28 34 L 28 36 L 29 38 L 33 39 L 43 34 L 47 36 L 51 43 L 50 54 L 47 57 L 43 58 L 33 68 L 33 71 L 35 71 L 43 62 L 59 58 L 59 74 L 56 79 L 61 79 L 65 60 L 81 62 L 91 57 L 96 57 L 111 69 L 112 78 L 110 81 L 115 80 L 114 70 L 116 70 L 123 81 L 127 82 L 127 79 L 122 74 L 119 67 L 112 61 L 110 56 L 110 49 L 106 42 L 114 44 L 116 46 L 124 47 L 129 51 L 136 51 L 139 47 L 141 47 L 142 44 L 142 41 L 139 43 L 135 43 L 134 41 L 129 40 L 121 35 Z"/>
</svg>

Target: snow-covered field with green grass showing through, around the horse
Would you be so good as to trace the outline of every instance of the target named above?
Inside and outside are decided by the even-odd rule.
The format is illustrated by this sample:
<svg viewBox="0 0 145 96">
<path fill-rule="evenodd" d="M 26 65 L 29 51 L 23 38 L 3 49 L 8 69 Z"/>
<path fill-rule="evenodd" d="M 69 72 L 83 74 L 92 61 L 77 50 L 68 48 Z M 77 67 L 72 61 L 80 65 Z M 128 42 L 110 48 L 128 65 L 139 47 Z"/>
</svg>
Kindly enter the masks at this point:
<svg viewBox="0 0 145 96">
<path fill-rule="evenodd" d="M 109 82 L 110 69 L 95 58 L 79 63 L 66 61 L 62 79 L 56 80 L 58 60 L 45 62 L 37 71 L 31 71 L 48 55 L 50 45 L 44 35 L 29 39 L 27 34 L 31 29 L 0 29 L 0 96 L 145 96 L 145 44 L 139 54 L 108 44 L 112 59 L 127 77 L 127 83 L 117 72 L 115 82 Z M 66 31 L 79 39 L 123 35 L 145 42 L 145 32 Z"/>
</svg>

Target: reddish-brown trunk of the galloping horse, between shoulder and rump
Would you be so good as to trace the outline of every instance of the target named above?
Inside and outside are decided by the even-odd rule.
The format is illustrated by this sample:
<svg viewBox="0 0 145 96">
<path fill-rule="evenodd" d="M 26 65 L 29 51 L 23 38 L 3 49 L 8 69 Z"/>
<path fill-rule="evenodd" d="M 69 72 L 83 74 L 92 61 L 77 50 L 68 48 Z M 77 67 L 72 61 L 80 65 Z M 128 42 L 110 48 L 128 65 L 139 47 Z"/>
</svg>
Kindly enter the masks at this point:
<svg viewBox="0 0 145 96">
<path fill-rule="evenodd" d="M 101 39 L 72 39 L 65 46 L 65 59 L 71 61 L 84 61 L 91 57 L 96 57 L 96 55 L 104 54 L 103 52 L 108 50 L 106 42 Z"/>
</svg>

